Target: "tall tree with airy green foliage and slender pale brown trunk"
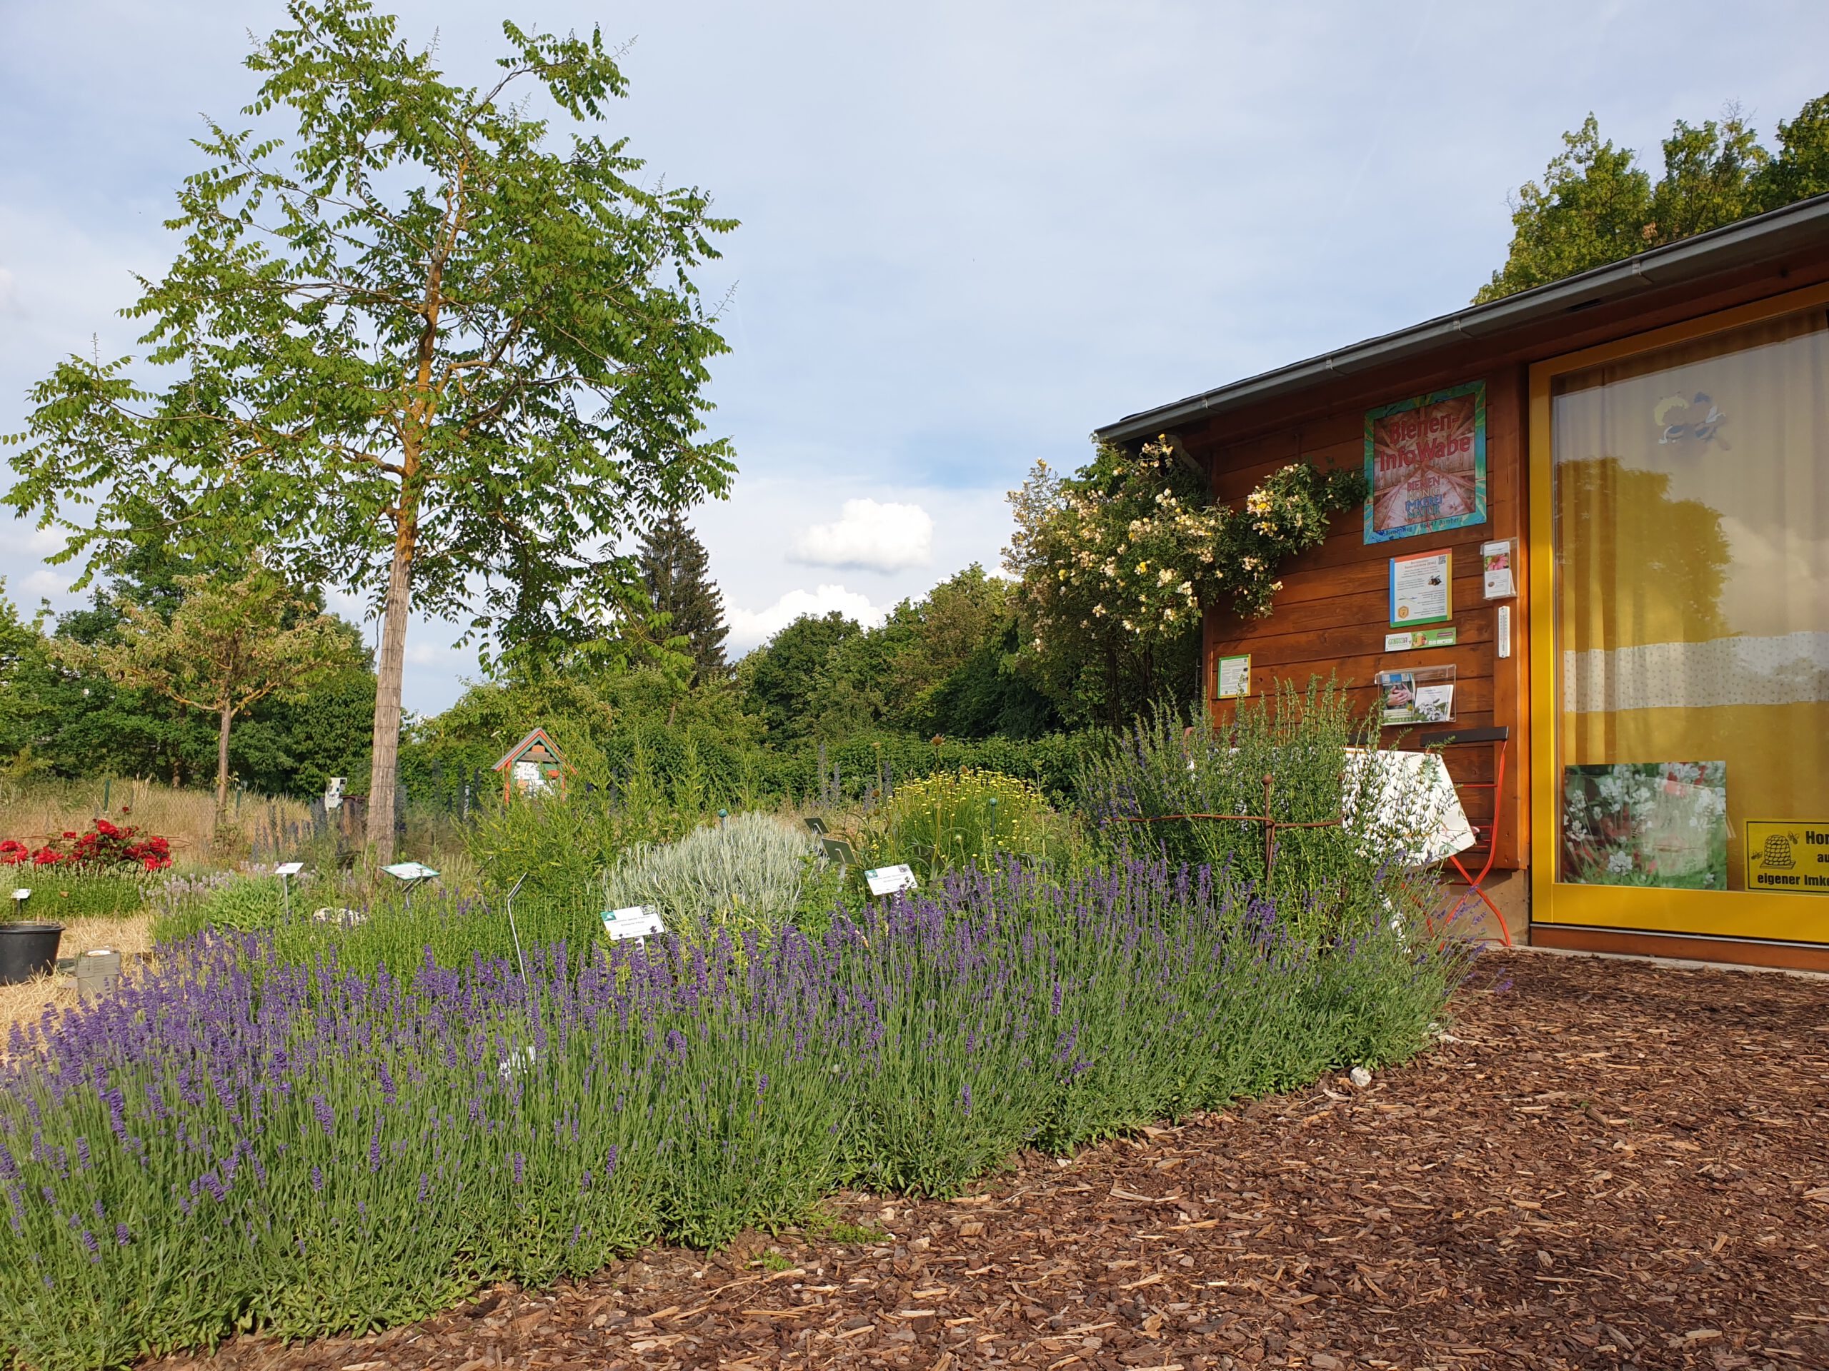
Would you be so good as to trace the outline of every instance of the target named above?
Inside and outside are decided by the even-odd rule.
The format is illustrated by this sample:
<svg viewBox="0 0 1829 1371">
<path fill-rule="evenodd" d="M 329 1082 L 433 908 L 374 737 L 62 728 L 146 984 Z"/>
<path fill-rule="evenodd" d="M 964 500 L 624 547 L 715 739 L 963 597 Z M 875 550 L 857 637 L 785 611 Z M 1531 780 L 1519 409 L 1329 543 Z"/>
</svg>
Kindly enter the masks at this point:
<svg viewBox="0 0 1829 1371">
<path fill-rule="evenodd" d="M 126 311 L 176 380 L 146 391 L 132 358 L 59 366 L 5 501 L 93 570 L 161 492 L 185 547 L 262 548 L 300 583 L 371 596 L 369 843 L 391 852 L 412 612 L 468 612 L 466 636 L 558 656 L 624 605 L 604 543 L 726 490 L 728 444 L 701 439 L 724 342 L 691 271 L 733 223 L 582 132 L 626 91 L 600 33 L 505 22 L 481 88 L 366 0 L 287 15 L 247 58 L 260 128 L 209 124 L 212 165 L 170 221 L 183 252 Z M 563 146 L 523 90 L 571 121 Z M 93 517 L 71 517 L 88 499 Z"/>
</svg>

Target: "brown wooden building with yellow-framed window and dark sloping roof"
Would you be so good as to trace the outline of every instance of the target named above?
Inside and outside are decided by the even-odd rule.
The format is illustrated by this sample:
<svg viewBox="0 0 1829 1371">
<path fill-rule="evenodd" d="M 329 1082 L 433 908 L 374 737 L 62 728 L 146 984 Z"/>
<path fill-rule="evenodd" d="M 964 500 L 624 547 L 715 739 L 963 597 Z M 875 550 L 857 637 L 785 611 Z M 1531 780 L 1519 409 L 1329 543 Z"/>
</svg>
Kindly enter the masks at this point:
<svg viewBox="0 0 1829 1371">
<path fill-rule="evenodd" d="M 1097 433 L 1160 435 L 1224 501 L 1295 461 L 1374 481 L 1267 618 L 1207 612 L 1218 718 L 1242 656 L 1249 695 L 1452 684 L 1452 728 L 1509 733 L 1449 760 L 1507 749 L 1514 940 L 1829 969 L 1829 196 Z"/>
</svg>

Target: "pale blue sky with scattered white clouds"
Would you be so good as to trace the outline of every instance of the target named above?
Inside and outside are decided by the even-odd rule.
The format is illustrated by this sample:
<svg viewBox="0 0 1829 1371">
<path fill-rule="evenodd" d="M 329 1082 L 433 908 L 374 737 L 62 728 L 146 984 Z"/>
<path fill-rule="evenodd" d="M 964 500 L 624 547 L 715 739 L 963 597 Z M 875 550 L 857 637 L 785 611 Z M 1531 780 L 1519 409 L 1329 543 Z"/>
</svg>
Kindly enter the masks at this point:
<svg viewBox="0 0 1829 1371">
<path fill-rule="evenodd" d="M 386 7 L 386 5 L 384 5 Z M 499 0 L 395 5 L 481 82 Z M 1507 197 L 1595 112 L 1653 166 L 1736 102 L 1772 141 L 1829 90 L 1829 7 L 1624 4 L 770 5 L 518 0 L 521 27 L 629 44 L 607 112 L 647 175 L 741 219 L 713 435 L 732 497 L 693 514 L 744 651 L 801 612 L 874 622 L 999 563 L 1006 492 L 1121 415 L 1465 305 Z M 234 122 L 269 0 L 0 0 L 0 433 L 68 353 L 134 351 L 134 272 Z M 0 450 L 5 453 L 7 450 Z M 9 473 L 0 472 L 0 483 Z M 82 596 L 0 514 L 27 612 Z M 360 620 L 366 607 L 337 601 Z M 373 623 L 368 625 L 373 638 Z M 406 706 L 477 675 L 415 622 Z"/>
</svg>

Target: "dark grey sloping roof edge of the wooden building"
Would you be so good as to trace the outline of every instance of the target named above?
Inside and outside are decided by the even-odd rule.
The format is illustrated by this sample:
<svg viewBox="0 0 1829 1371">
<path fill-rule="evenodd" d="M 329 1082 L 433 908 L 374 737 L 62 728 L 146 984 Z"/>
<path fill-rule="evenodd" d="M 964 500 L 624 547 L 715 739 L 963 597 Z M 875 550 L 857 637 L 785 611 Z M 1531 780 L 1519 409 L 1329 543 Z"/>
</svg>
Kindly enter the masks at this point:
<svg viewBox="0 0 1829 1371">
<path fill-rule="evenodd" d="M 1092 437 L 1099 442 L 1150 437 L 1187 419 L 1207 419 L 1258 400 L 1293 395 L 1326 380 L 1423 356 L 1456 340 L 1496 338 L 1546 318 L 1567 314 L 1571 309 L 1588 309 L 1661 285 L 1730 271 L 1824 238 L 1829 238 L 1829 194 L 1800 199 L 1796 205 L 1710 228 L 1706 234 L 1610 261 L 1604 267 L 1591 267 L 1577 276 L 1564 276 L 1560 282 L 1535 285 L 1503 300 L 1469 305 L 1452 314 L 1439 314 L 1333 353 L 1246 377 L 1185 400 L 1141 409 L 1116 424 L 1096 428 Z"/>
</svg>

